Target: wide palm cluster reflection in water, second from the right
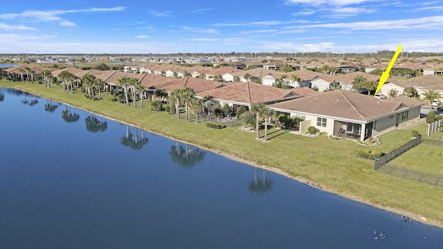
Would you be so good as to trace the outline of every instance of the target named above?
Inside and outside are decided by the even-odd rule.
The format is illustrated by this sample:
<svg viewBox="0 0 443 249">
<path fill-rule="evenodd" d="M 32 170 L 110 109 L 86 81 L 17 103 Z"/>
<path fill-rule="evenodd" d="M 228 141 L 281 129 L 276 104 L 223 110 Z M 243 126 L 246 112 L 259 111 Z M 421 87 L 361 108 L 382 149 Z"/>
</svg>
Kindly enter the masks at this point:
<svg viewBox="0 0 443 249">
<path fill-rule="evenodd" d="M 201 151 L 199 147 L 192 147 L 186 145 L 186 149 L 176 142 L 176 145 L 171 146 L 169 154 L 174 163 L 179 163 L 184 167 L 194 167 L 197 163 L 203 160 L 205 151 Z"/>
</svg>

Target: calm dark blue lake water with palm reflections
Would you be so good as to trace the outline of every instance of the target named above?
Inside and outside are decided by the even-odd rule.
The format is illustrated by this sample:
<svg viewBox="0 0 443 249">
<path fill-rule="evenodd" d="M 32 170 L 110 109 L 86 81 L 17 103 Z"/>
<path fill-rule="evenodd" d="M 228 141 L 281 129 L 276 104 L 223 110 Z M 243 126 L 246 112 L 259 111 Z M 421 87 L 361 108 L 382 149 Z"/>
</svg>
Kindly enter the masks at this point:
<svg viewBox="0 0 443 249">
<path fill-rule="evenodd" d="M 1 89 L 0 128 L 0 248 L 443 248 L 440 228 L 21 91 Z"/>
</svg>

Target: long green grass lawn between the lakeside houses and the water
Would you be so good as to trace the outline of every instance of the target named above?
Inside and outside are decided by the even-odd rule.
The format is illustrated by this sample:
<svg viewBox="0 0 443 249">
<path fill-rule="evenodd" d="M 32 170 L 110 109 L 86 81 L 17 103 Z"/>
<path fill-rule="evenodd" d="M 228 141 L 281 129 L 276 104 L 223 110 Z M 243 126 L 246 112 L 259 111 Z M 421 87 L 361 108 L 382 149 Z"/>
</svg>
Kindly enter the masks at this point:
<svg viewBox="0 0 443 249">
<path fill-rule="evenodd" d="M 1 82 L 0 86 L 24 89 L 147 131 L 281 169 L 291 177 L 303 177 L 336 194 L 396 210 L 416 219 L 422 215 L 429 223 L 443 226 L 443 189 L 374 172 L 373 161 L 354 156 L 354 149 L 392 151 L 412 139 L 409 130 L 386 133 L 380 136 L 381 145 L 374 147 L 363 147 L 352 140 L 330 140 L 327 136 L 299 136 L 278 129 L 269 129 L 269 142 L 262 142 L 255 139 L 254 132 L 241 131 L 238 127 L 210 129 L 204 122 L 196 124 L 177 120 L 165 112 L 152 112 L 147 103 L 145 109 L 134 109 L 111 102 L 106 94 L 102 95 L 104 100 L 92 101 L 84 98 L 81 91 L 63 93 L 60 86 L 46 89 L 41 84 L 22 82 Z M 417 129 L 426 133 L 426 127 Z M 261 136 L 263 132 L 260 131 Z"/>
</svg>

